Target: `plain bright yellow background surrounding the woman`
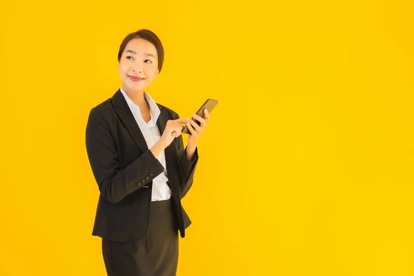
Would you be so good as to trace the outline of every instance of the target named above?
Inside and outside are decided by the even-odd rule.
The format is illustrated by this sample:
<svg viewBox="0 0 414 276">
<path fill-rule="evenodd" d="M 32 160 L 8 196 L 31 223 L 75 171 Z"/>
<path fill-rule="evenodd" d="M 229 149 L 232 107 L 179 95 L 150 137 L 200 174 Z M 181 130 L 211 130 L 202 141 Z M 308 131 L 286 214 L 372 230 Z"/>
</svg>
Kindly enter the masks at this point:
<svg viewBox="0 0 414 276">
<path fill-rule="evenodd" d="M 271 2 L 1 4 L 0 275 L 105 275 L 85 127 L 140 28 L 157 102 L 219 101 L 178 275 L 414 275 L 413 2 Z"/>
</svg>

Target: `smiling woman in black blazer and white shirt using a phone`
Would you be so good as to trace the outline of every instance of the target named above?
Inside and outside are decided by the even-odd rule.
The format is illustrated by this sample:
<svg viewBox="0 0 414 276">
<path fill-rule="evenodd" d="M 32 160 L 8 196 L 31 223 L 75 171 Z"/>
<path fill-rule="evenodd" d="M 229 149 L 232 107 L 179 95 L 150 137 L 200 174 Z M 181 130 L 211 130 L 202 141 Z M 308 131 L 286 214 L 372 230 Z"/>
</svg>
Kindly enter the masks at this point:
<svg viewBox="0 0 414 276">
<path fill-rule="evenodd" d="M 109 276 L 176 275 L 178 230 L 191 224 L 181 199 L 193 184 L 197 141 L 206 130 L 181 119 L 148 95 L 157 79 L 164 48 L 150 30 L 132 32 L 118 53 L 122 87 L 90 110 L 86 150 L 99 186 L 92 235 L 102 237 Z M 184 149 L 181 129 L 189 128 Z"/>
</svg>

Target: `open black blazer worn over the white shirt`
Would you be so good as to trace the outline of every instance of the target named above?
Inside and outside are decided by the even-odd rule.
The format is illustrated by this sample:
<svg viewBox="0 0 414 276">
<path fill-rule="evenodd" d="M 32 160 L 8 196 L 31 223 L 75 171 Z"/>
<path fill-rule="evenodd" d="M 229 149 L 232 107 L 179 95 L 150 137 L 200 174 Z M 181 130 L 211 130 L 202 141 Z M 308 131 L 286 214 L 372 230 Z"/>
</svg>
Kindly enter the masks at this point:
<svg viewBox="0 0 414 276">
<path fill-rule="evenodd" d="M 179 115 L 157 103 L 161 114 L 159 132 L 168 119 Z M 90 110 L 86 126 L 86 151 L 99 186 L 99 200 L 92 235 L 117 242 L 137 242 L 148 233 L 152 179 L 164 167 L 148 149 L 121 90 Z M 198 149 L 192 161 L 186 158 L 182 135 L 165 149 L 167 184 L 181 237 L 191 221 L 181 199 L 193 185 Z"/>
</svg>

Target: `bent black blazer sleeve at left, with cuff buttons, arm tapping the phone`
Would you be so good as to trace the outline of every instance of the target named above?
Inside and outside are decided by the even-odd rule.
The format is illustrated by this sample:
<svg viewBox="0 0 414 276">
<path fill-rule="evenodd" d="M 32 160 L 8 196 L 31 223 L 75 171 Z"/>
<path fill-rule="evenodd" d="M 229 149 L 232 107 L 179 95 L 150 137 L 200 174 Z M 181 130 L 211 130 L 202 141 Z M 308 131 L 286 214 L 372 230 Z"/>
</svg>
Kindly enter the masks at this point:
<svg viewBox="0 0 414 276">
<path fill-rule="evenodd" d="M 96 107 L 90 110 L 86 125 L 86 151 L 99 191 L 112 203 L 118 203 L 164 171 L 149 149 L 126 168 L 119 168 L 119 156 L 108 121 Z"/>
</svg>

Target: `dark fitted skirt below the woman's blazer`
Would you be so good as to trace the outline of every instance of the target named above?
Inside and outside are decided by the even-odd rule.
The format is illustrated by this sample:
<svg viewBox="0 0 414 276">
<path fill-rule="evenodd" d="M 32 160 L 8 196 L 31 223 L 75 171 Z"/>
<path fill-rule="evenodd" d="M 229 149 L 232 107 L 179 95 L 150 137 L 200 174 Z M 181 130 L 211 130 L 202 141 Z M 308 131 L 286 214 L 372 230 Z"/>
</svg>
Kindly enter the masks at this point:
<svg viewBox="0 0 414 276">
<path fill-rule="evenodd" d="M 108 276 L 175 276 L 178 230 L 171 200 L 151 202 L 144 239 L 134 243 L 102 239 L 102 255 Z"/>
</svg>

